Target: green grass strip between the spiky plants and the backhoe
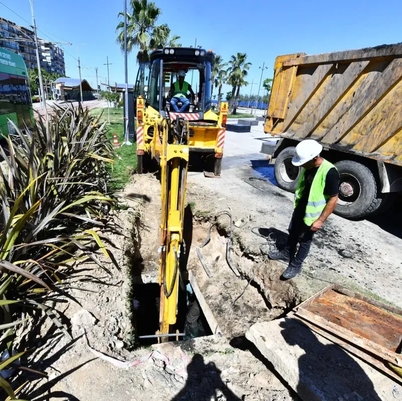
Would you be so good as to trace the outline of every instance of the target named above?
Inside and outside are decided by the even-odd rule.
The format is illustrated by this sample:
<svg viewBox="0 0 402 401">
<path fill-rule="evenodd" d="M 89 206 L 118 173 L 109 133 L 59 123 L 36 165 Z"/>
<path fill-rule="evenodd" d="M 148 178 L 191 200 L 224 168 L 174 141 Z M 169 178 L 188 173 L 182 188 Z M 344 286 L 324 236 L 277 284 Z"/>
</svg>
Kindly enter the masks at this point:
<svg viewBox="0 0 402 401">
<path fill-rule="evenodd" d="M 110 111 L 110 125 L 106 124 L 108 130 L 108 138 L 113 143 L 113 134 L 116 132 L 117 139 L 120 146 L 124 142 L 124 125 L 123 125 L 123 108 L 109 109 Z M 103 113 L 103 114 L 102 114 Z M 108 109 L 92 109 L 92 116 L 99 116 L 102 114 L 101 121 L 108 121 Z M 124 188 L 124 186 L 130 181 L 130 176 L 137 168 L 137 144 L 133 143 L 133 146 L 124 145 L 119 149 L 116 149 L 116 153 L 121 159 L 115 158 L 116 163 L 111 168 L 112 178 L 109 182 L 109 189 L 112 191 L 118 191 Z"/>
</svg>

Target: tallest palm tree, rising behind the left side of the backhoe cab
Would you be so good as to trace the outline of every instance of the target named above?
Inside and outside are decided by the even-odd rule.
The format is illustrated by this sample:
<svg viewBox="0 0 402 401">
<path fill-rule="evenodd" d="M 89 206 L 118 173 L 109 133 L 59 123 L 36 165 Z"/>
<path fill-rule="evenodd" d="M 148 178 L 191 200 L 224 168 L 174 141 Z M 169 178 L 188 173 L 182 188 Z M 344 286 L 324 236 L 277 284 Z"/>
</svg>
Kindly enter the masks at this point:
<svg viewBox="0 0 402 401">
<path fill-rule="evenodd" d="M 148 0 L 130 0 L 130 12 L 127 12 L 127 51 L 139 47 L 137 61 L 139 63 L 148 61 L 148 49 L 151 38 L 159 43 L 163 39 L 167 40 L 169 32 L 167 26 L 156 26 L 156 21 L 162 14 L 162 10 L 156 7 L 154 2 Z M 124 12 L 120 12 L 118 17 L 124 17 Z M 120 21 L 116 27 L 118 36 L 116 42 L 124 49 L 124 22 Z"/>
</svg>

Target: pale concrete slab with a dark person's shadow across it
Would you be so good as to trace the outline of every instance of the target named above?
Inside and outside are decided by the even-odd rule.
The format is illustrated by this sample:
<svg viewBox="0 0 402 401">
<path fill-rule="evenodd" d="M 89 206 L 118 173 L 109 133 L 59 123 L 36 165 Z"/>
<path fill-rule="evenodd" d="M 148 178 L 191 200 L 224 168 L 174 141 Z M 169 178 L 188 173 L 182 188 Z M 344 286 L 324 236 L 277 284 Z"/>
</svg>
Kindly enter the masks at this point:
<svg viewBox="0 0 402 401">
<path fill-rule="evenodd" d="M 402 387 L 290 318 L 257 323 L 246 333 L 305 401 L 402 399 Z"/>
</svg>

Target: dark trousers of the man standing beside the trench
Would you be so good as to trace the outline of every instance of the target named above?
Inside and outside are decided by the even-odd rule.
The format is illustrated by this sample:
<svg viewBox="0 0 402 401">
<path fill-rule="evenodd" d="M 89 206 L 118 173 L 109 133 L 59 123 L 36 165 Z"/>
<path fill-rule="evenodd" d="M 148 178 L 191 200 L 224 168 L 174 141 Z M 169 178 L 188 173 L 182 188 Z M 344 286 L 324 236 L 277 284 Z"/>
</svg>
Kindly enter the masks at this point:
<svg viewBox="0 0 402 401">
<path fill-rule="evenodd" d="M 309 254 L 314 234 L 315 232 L 310 230 L 310 226 L 307 226 L 303 221 L 303 216 L 293 213 L 289 224 L 289 238 L 286 246 L 289 250 L 290 263 L 293 266 L 302 266 L 303 261 Z M 298 250 L 297 244 L 299 244 Z"/>
</svg>

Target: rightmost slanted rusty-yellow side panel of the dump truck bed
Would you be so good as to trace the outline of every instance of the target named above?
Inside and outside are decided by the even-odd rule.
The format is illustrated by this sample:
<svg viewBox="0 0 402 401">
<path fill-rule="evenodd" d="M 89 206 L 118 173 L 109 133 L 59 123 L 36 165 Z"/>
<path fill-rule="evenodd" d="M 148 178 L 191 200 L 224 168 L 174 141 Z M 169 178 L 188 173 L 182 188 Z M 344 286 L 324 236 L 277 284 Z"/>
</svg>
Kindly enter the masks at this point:
<svg viewBox="0 0 402 401">
<path fill-rule="evenodd" d="M 402 81 L 399 81 L 368 113 L 353 131 L 364 135 L 354 149 L 361 152 L 375 152 L 392 138 L 402 127 Z M 344 141 L 347 140 L 347 136 Z M 400 149 L 396 150 L 400 153 Z"/>
</svg>

